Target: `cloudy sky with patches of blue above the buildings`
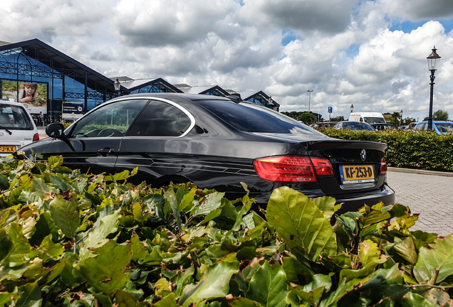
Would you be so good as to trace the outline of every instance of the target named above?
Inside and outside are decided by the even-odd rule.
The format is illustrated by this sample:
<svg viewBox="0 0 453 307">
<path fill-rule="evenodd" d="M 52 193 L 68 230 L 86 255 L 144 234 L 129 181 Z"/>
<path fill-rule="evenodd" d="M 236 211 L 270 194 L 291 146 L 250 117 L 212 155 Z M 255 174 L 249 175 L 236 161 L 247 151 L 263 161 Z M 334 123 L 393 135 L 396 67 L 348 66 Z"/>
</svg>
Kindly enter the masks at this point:
<svg viewBox="0 0 453 307">
<path fill-rule="evenodd" d="M 107 76 L 263 90 L 281 111 L 453 118 L 452 0 L 1 0 L 0 41 L 38 38 Z"/>
</svg>

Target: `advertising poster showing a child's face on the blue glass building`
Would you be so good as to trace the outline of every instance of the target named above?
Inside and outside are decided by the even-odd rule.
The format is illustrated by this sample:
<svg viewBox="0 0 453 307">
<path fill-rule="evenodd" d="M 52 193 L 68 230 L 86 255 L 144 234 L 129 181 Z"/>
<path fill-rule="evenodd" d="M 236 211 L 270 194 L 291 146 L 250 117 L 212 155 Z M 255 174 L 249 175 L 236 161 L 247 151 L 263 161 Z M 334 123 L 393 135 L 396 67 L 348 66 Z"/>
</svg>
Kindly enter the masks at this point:
<svg viewBox="0 0 453 307">
<path fill-rule="evenodd" d="M 21 102 L 30 113 L 47 113 L 47 83 L 1 81 L 1 97 Z"/>
</svg>

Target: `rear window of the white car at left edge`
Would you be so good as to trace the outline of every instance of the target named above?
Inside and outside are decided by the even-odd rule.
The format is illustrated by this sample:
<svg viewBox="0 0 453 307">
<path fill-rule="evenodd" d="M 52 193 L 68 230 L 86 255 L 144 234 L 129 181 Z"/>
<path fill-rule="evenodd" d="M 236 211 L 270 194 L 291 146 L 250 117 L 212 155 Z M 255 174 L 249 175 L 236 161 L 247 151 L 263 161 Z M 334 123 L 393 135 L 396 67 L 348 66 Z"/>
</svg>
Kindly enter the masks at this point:
<svg viewBox="0 0 453 307">
<path fill-rule="evenodd" d="M 9 130 L 32 130 L 26 110 L 14 104 L 0 104 L 0 126 Z"/>
</svg>

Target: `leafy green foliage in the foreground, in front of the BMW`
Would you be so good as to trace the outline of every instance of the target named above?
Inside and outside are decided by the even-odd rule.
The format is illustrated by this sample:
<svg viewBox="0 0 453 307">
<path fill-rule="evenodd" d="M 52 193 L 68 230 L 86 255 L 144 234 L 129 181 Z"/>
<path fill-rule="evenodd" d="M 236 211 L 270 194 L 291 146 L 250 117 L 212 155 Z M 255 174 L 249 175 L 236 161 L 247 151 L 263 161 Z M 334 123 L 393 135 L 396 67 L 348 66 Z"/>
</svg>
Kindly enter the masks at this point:
<svg viewBox="0 0 453 307">
<path fill-rule="evenodd" d="M 453 306 L 452 236 L 403 205 L 332 227 L 333 198 L 279 188 L 266 222 L 248 193 L 3 162 L 0 306 Z"/>
</svg>

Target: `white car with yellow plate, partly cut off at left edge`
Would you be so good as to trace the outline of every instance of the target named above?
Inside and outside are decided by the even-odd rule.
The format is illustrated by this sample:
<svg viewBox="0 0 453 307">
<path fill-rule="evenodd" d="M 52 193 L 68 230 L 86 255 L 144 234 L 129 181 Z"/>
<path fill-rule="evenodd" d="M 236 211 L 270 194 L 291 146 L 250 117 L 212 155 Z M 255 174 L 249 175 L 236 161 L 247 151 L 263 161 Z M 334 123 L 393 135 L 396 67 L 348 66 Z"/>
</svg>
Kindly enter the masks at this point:
<svg viewBox="0 0 453 307">
<path fill-rule="evenodd" d="M 0 157 L 39 141 L 38 129 L 24 104 L 0 100 Z"/>
</svg>

